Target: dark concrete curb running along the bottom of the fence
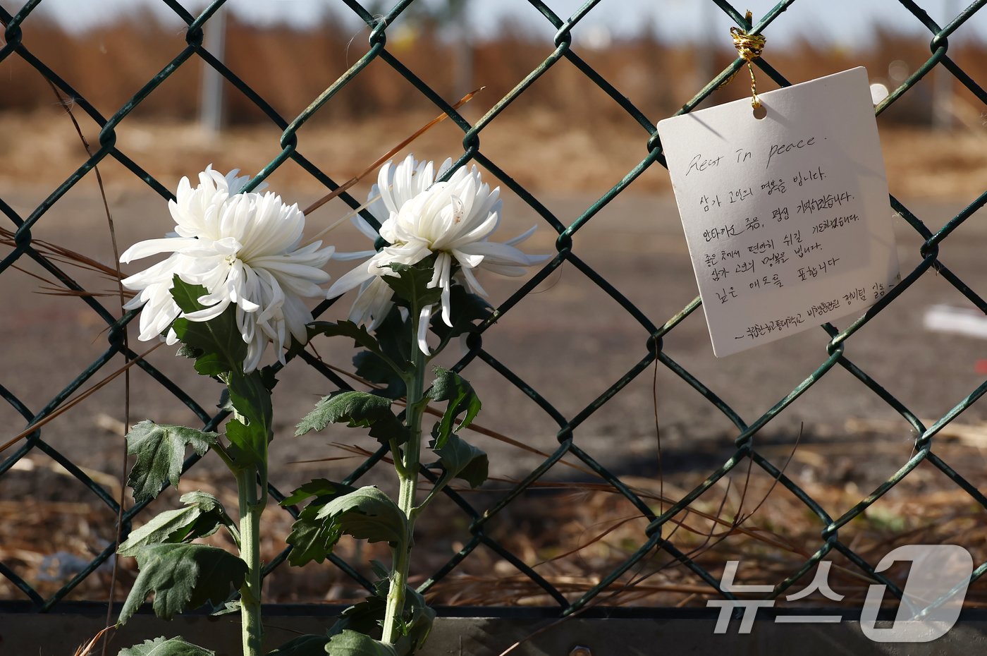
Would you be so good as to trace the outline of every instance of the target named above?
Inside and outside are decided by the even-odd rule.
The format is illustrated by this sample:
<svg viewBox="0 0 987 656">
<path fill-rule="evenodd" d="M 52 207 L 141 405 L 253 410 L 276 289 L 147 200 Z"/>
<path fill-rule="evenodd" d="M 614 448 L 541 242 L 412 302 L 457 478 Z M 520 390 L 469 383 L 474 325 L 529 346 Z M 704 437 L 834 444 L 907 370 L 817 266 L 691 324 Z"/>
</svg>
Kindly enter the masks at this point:
<svg viewBox="0 0 987 656">
<path fill-rule="evenodd" d="M 267 649 L 299 633 L 324 631 L 341 610 L 318 606 L 266 609 Z M 26 604 L 0 604 L 0 654 L 71 656 L 79 644 L 103 628 L 105 613 L 106 607 L 99 604 L 69 603 L 47 614 L 33 613 Z M 859 621 L 853 618 L 829 624 L 777 623 L 776 614 L 762 612 L 749 634 L 737 633 L 736 619 L 726 633 L 715 634 L 717 614 L 706 609 L 594 610 L 590 616 L 565 621 L 559 621 L 555 613 L 555 609 L 440 609 L 428 644 L 419 653 L 499 656 L 521 640 L 524 642 L 510 652 L 512 656 L 965 656 L 987 652 L 987 613 L 982 611 L 964 612 L 949 633 L 928 643 L 876 643 L 864 635 Z M 472 616 L 464 616 L 467 614 Z M 182 615 L 166 622 L 143 614 L 135 615 L 117 631 L 107 653 L 115 656 L 123 647 L 160 635 L 182 635 L 214 649 L 217 656 L 239 653 L 237 615 Z"/>
</svg>

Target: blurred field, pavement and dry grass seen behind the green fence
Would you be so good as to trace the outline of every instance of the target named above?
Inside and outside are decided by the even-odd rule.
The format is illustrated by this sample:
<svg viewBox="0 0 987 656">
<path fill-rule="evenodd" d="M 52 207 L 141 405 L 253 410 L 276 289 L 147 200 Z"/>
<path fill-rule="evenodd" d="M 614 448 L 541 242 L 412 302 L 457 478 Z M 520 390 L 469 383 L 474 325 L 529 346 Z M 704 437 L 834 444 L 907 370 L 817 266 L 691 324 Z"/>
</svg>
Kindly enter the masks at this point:
<svg viewBox="0 0 987 656">
<path fill-rule="evenodd" d="M 901 11 L 897 3 L 884 4 Z M 42 8 L 46 5 L 41 3 Z M 10 1 L 0 1 L 0 6 L 18 8 Z M 602 11 L 607 6 L 603 3 Z M 796 3 L 790 13 L 805 6 Z M 74 11 L 72 16 L 81 15 Z M 368 31 L 354 27 L 352 21 L 343 20 L 342 10 L 336 11 L 326 11 L 304 26 L 298 21 L 251 22 L 233 14 L 227 23 L 226 64 L 291 121 L 366 51 Z M 530 8 L 474 34 L 464 33 L 454 18 L 437 9 L 404 17 L 389 28 L 387 47 L 449 102 L 483 87 L 462 110 L 468 121 L 475 122 L 555 45 L 551 32 L 546 36 L 544 20 Z M 853 20 L 850 15 L 840 18 L 844 19 Z M 785 33 L 784 22 L 768 32 L 766 59 L 794 83 L 864 65 L 879 100 L 881 88 L 884 93 L 893 90 L 929 57 L 929 35 L 906 30 L 907 21 L 872 21 L 853 28 L 857 37 L 851 41 L 838 38 L 839 21 L 817 28 L 821 32 L 804 28 L 810 23 L 803 16 L 803 28 L 790 30 L 784 39 L 774 36 Z M 987 80 L 983 24 L 964 26 L 950 37 L 949 47 L 949 56 L 981 85 Z M 674 114 L 735 56 L 725 29 L 700 34 L 699 39 L 675 40 L 654 19 L 620 31 L 601 20 L 595 27 L 577 26 L 573 48 L 656 123 Z M 181 24 L 163 21 L 158 12 L 122 12 L 110 22 L 83 27 L 73 27 L 64 15 L 41 13 L 23 26 L 22 42 L 110 117 L 185 47 L 186 34 Z M 703 106 L 746 96 L 745 75 L 741 71 L 738 81 L 715 92 Z M 937 67 L 878 119 L 890 191 L 933 230 L 987 187 L 987 108 L 944 75 Z M 203 127 L 201 76 L 202 66 L 193 58 L 115 129 L 116 146 L 169 189 L 210 162 L 224 171 L 258 171 L 281 150 L 281 130 L 229 84 L 225 85 L 224 127 L 219 132 Z M 767 91 L 776 85 L 759 73 L 758 88 Z M 73 108 L 71 99 L 65 105 L 73 110 L 89 143 L 98 147 L 98 124 Z M 22 217 L 86 160 L 64 109 L 32 66 L 18 56 L 0 61 L 0 200 Z M 346 180 L 435 116 L 436 109 L 427 99 L 377 60 L 305 123 L 298 132 L 298 151 L 334 180 Z M 419 158 L 456 156 L 462 152 L 462 138 L 462 131 L 445 121 L 408 150 Z M 507 176 L 569 224 L 645 158 L 649 138 L 642 125 L 581 72 L 561 62 L 481 132 L 480 147 Z M 167 207 L 143 182 L 111 158 L 100 164 L 100 172 L 121 249 L 170 229 Z M 370 182 L 361 182 L 354 196 L 364 198 Z M 291 161 L 268 183 L 303 206 L 326 191 Z M 508 236 L 540 220 L 513 193 L 504 192 L 504 203 L 503 229 Z M 328 225 L 348 210 L 341 201 L 333 201 L 314 212 L 309 224 Z M 985 219 L 981 208 L 955 238 L 943 244 L 944 261 L 981 292 L 987 289 L 982 264 L 987 249 Z M 14 229 L 9 223 L 3 227 Z M 895 218 L 895 231 L 902 270 L 910 271 L 922 260 L 923 240 L 900 217 Z M 47 241 L 104 267 L 114 266 L 106 210 L 92 174 L 48 209 L 32 232 L 36 247 Z M 529 250 L 553 252 L 555 237 L 543 223 Z M 346 224 L 330 238 L 340 250 L 367 246 Z M 657 325 L 697 293 L 668 176 L 658 165 L 602 208 L 573 242 L 578 257 Z M 0 235 L 0 257 L 13 248 L 11 234 Z M 331 265 L 334 278 L 347 270 L 344 264 Z M 0 277 L 0 302 L 5 307 L 0 312 L 0 343 L 5 345 L 0 382 L 37 411 L 105 351 L 106 324 L 78 299 L 66 297 L 64 287 L 36 265 L 22 260 L 18 267 Z M 124 269 L 124 273 L 135 270 Z M 103 275 L 71 272 L 86 289 L 113 292 L 114 283 Z M 507 298 L 516 285 L 490 281 L 494 304 Z M 115 307 L 113 295 L 102 300 Z M 987 342 L 925 329 L 924 313 L 943 302 L 968 304 L 930 273 L 846 345 L 848 357 L 930 421 L 981 384 L 987 370 Z M 344 316 L 343 304 L 331 308 L 324 318 Z M 850 321 L 838 327 L 845 328 Z M 641 325 L 565 265 L 499 321 L 485 335 L 484 344 L 571 417 L 640 359 L 647 339 Z M 828 341 L 822 331 L 810 331 L 718 361 L 700 311 L 669 333 L 663 348 L 750 421 L 826 359 Z M 138 345 L 138 350 L 146 346 Z M 317 349 L 326 363 L 349 369 L 348 344 L 319 343 Z M 174 358 L 168 349 L 149 359 L 211 409 L 218 393 L 212 381 L 196 378 L 188 363 Z M 491 452 L 494 476 L 483 492 L 466 494 L 484 508 L 558 447 L 558 426 L 492 369 L 475 364 L 466 374 L 485 402 L 480 425 L 486 432 L 471 439 Z M 369 447 L 354 446 L 356 441 L 345 432 L 330 431 L 305 441 L 291 438 L 294 422 L 329 391 L 327 382 L 307 369 L 297 368 L 292 375 L 277 388 L 278 439 L 272 447 L 277 464 L 273 481 L 285 491 L 315 475 L 342 475 L 358 462 L 359 450 Z M 188 408 L 147 376 L 135 374 L 131 389 L 132 422 L 144 417 L 194 422 Z M 122 392 L 122 380 L 115 379 L 43 429 L 45 441 L 68 454 L 114 497 L 120 493 Z M 668 369 L 648 369 L 579 427 L 576 444 L 658 511 L 700 484 L 733 452 L 736 428 L 710 410 L 706 399 Z M 987 489 L 985 422 L 987 409 L 981 402 L 937 438 L 937 452 L 981 491 Z M 0 423 L 16 430 L 24 424 L 23 417 L 6 405 L 0 408 Z M 759 451 L 784 463 L 799 485 L 838 516 L 908 460 L 914 437 L 900 416 L 837 369 L 766 426 L 757 440 Z M 0 460 L 9 453 L 0 452 Z M 489 532 L 574 598 L 634 553 L 646 521 L 595 473 L 571 457 L 566 460 L 569 464 L 554 467 L 498 515 Z M 201 487 L 222 495 L 229 485 L 215 475 L 220 471 L 206 458 L 183 479 L 178 492 Z M 372 480 L 384 484 L 383 479 Z M 178 492 L 167 491 L 156 507 L 177 504 Z M 420 542 L 430 547 L 420 550 L 423 560 L 417 565 L 417 583 L 471 538 L 469 522 L 451 503 L 438 515 L 434 525 L 422 526 Z M 269 560 L 283 547 L 290 519 L 273 509 L 266 517 L 270 524 L 264 550 Z M 920 541 L 961 542 L 982 562 L 987 558 L 983 518 L 982 507 L 938 470 L 923 464 L 845 527 L 841 539 L 872 562 L 894 545 Z M 51 594 L 112 542 L 114 519 L 64 468 L 33 451 L 0 477 L 0 562 L 13 567 L 42 594 Z M 791 493 L 756 468 L 748 475 L 746 466 L 697 500 L 680 524 L 674 529 L 680 549 L 714 572 L 721 570 L 726 558 L 743 557 L 748 563 L 745 582 L 751 583 L 777 583 L 794 571 L 818 548 L 823 528 Z M 353 562 L 386 556 L 352 543 L 342 545 L 341 553 Z M 869 581 L 842 556 L 833 559 L 840 577 L 833 582 L 834 589 L 848 595 L 848 608 L 859 608 Z M 135 575 L 131 561 L 121 565 L 118 598 Z M 101 567 L 70 598 L 106 599 L 111 571 L 109 564 Z M 338 602 L 360 594 L 339 571 L 314 565 L 276 570 L 268 590 L 270 601 Z M 702 606 L 710 591 L 694 573 L 659 553 L 608 590 L 608 594 L 617 592 L 621 596 L 605 603 Z M 439 603 L 552 603 L 507 560 L 484 547 L 431 594 Z M 12 584 L 0 580 L 0 599 L 21 598 Z M 984 601 L 982 585 L 968 601 Z"/>
</svg>

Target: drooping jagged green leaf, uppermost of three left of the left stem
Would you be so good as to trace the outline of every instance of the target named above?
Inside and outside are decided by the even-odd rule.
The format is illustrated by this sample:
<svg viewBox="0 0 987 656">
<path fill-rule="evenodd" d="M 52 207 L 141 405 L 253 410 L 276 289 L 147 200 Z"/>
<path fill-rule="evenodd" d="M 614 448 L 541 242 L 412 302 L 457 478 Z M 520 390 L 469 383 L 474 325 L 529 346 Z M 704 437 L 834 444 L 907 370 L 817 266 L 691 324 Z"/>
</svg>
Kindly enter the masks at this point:
<svg viewBox="0 0 987 656">
<path fill-rule="evenodd" d="M 150 420 L 136 424 L 126 435 L 126 452 L 137 456 L 127 477 L 134 500 L 155 498 L 166 481 L 178 485 L 186 447 L 204 455 L 218 438 L 215 433 Z"/>
</svg>

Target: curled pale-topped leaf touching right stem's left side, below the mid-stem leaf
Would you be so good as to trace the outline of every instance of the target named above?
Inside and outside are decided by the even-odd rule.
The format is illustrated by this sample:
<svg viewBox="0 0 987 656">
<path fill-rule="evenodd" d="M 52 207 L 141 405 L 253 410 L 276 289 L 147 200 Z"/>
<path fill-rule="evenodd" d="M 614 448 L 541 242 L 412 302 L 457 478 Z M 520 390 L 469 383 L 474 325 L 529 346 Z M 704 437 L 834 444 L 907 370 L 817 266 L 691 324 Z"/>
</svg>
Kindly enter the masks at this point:
<svg viewBox="0 0 987 656">
<path fill-rule="evenodd" d="M 408 533 L 408 518 L 376 487 L 361 487 L 337 497 L 316 515 L 339 527 L 340 533 L 370 542 L 398 542 Z"/>
</svg>

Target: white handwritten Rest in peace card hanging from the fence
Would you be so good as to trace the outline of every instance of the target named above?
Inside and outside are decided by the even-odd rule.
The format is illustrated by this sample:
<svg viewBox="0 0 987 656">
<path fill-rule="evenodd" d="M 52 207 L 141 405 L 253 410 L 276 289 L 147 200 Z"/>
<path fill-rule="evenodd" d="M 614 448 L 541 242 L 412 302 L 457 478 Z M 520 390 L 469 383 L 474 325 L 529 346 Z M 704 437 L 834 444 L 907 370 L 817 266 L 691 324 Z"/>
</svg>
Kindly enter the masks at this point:
<svg viewBox="0 0 987 656">
<path fill-rule="evenodd" d="M 851 314 L 899 280 L 867 71 L 658 123 L 718 357 Z"/>
</svg>

